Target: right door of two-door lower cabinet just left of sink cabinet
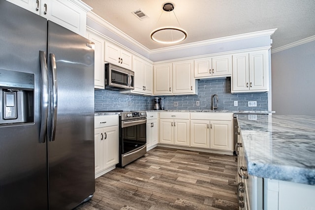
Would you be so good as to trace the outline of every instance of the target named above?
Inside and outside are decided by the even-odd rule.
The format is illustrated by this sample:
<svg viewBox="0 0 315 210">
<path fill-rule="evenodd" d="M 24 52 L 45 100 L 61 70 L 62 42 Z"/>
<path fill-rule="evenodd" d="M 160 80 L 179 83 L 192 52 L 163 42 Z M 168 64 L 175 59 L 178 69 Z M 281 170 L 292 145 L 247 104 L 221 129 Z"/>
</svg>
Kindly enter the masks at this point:
<svg viewBox="0 0 315 210">
<path fill-rule="evenodd" d="M 174 120 L 174 145 L 190 145 L 189 120 Z"/>
</svg>

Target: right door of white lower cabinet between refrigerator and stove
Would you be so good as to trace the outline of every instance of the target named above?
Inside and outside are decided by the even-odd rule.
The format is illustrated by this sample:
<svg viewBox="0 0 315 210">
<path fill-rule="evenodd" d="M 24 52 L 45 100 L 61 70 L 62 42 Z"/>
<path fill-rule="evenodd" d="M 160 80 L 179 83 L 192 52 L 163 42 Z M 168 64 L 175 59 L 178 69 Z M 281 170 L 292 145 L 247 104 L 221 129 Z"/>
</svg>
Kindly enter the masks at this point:
<svg viewBox="0 0 315 210">
<path fill-rule="evenodd" d="M 119 162 L 118 126 L 104 128 L 104 169 Z"/>
</svg>

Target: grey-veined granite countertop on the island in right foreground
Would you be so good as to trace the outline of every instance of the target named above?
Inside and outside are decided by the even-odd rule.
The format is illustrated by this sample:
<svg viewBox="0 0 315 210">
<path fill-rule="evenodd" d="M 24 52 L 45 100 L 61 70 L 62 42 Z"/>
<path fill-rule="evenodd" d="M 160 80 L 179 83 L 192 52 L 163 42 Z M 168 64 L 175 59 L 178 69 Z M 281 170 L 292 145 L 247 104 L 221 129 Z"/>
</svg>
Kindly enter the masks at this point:
<svg viewBox="0 0 315 210">
<path fill-rule="evenodd" d="M 315 116 L 237 116 L 248 174 L 315 185 Z"/>
</svg>

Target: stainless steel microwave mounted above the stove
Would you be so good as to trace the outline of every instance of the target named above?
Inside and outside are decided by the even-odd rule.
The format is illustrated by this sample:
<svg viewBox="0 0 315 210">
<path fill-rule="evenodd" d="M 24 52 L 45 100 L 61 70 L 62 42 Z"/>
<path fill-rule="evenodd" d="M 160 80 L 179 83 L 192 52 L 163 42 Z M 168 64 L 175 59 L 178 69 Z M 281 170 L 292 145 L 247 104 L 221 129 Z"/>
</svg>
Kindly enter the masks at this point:
<svg viewBox="0 0 315 210">
<path fill-rule="evenodd" d="M 105 89 L 123 90 L 134 89 L 134 72 L 126 68 L 105 64 Z"/>
</svg>

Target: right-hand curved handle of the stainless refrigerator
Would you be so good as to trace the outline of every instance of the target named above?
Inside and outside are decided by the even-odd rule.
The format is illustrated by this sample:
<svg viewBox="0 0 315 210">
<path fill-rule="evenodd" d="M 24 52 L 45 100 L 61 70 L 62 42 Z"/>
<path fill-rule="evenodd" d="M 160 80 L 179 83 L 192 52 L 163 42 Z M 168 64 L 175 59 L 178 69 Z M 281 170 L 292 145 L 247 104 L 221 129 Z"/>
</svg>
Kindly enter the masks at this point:
<svg viewBox="0 0 315 210">
<path fill-rule="evenodd" d="M 50 56 L 50 63 L 52 69 L 52 126 L 51 126 L 51 136 L 49 137 L 49 141 L 55 141 L 55 134 L 56 134 L 56 126 L 57 126 L 57 108 L 58 108 L 58 84 L 57 84 L 57 66 L 56 66 L 56 58 L 55 54 L 49 54 Z"/>
</svg>

